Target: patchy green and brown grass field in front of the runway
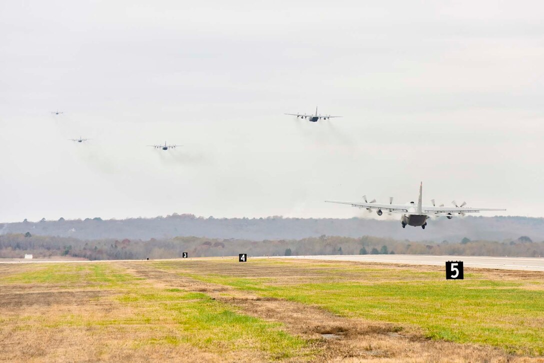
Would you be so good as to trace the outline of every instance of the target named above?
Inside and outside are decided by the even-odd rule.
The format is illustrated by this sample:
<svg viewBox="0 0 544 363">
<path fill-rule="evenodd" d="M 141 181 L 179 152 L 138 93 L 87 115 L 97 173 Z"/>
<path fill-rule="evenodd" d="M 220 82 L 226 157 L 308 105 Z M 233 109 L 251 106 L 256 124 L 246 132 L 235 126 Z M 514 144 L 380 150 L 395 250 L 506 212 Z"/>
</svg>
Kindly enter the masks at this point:
<svg viewBox="0 0 544 363">
<path fill-rule="evenodd" d="M 232 258 L 0 265 L 0 360 L 544 361 L 543 277 Z"/>
</svg>

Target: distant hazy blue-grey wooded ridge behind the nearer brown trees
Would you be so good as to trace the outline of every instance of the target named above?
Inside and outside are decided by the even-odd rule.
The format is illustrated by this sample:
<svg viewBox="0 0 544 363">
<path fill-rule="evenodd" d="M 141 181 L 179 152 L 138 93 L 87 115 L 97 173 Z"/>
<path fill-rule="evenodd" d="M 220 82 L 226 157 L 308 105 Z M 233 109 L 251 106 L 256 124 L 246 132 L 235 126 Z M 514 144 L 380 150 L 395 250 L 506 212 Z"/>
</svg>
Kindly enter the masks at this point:
<svg viewBox="0 0 544 363">
<path fill-rule="evenodd" d="M 368 216 L 366 211 L 364 216 Z M 172 214 L 155 218 L 129 218 L 103 220 L 101 217 L 84 220 L 28 221 L 3 223 L 0 231 L 74 237 L 78 239 L 149 240 L 169 239 L 177 236 L 241 240 L 291 240 L 320 235 L 341 235 L 358 238 L 361 235 L 412 241 L 503 241 L 528 235 L 533 240 L 544 240 L 544 218 L 466 216 L 448 220 L 437 218 L 423 231 L 421 228 L 400 228 L 399 220 L 388 219 L 314 219 L 271 216 L 265 218 L 214 218 L 193 214 Z M 379 250 L 379 247 L 378 247 Z"/>
</svg>

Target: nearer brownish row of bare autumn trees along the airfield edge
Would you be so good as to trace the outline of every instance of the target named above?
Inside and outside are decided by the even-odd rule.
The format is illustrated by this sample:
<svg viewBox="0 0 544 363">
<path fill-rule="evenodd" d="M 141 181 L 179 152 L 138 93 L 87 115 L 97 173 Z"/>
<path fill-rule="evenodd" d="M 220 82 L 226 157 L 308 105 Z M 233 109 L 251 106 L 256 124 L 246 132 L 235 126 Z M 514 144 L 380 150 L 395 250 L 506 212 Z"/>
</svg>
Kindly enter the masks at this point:
<svg viewBox="0 0 544 363">
<path fill-rule="evenodd" d="M 544 242 L 533 242 L 527 236 L 509 241 L 472 241 L 432 243 L 401 241 L 363 236 L 360 238 L 321 235 L 302 239 L 248 240 L 203 237 L 168 239 L 94 239 L 51 237 L 14 233 L 0 235 L 0 258 L 34 258 L 69 256 L 90 260 L 237 256 L 301 256 L 301 255 L 465 255 L 465 256 L 544 256 Z"/>
</svg>

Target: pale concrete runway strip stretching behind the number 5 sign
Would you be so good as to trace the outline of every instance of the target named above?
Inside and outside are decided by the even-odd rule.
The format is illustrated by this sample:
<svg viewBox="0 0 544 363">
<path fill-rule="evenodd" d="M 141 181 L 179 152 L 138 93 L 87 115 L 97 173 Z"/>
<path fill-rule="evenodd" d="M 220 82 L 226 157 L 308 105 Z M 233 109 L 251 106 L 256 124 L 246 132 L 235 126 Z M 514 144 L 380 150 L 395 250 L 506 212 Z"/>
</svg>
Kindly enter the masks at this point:
<svg viewBox="0 0 544 363">
<path fill-rule="evenodd" d="M 544 271 L 544 258 L 486 257 L 486 256 L 430 256 L 430 255 L 328 255 L 274 256 L 271 258 L 321 259 L 325 261 L 381 262 L 411 265 L 444 266 L 446 261 L 462 261 L 465 268 Z M 249 260 L 248 260 L 249 261 Z"/>
</svg>

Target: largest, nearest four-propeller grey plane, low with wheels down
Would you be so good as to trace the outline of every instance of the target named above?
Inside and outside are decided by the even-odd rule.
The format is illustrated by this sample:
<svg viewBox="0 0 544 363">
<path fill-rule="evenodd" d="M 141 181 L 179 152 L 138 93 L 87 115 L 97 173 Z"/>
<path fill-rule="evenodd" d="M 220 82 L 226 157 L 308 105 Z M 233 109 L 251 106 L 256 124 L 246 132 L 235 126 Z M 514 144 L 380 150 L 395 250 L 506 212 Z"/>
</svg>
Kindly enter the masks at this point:
<svg viewBox="0 0 544 363">
<path fill-rule="evenodd" d="M 463 216 L 466 213 L 480 213 L 481 211 L 490 211 L 490 210 L 506 210 L 506 209 L 489 209 L 489 208 L 468 208 L 465 207 L 467 204 L 463 202 L 461 205 L 457 205 L 455 201 L 452 204 L 455 207 L 444 207 L 444 204 L 440 206 L 435 205 L 434 199 L 431 199 L 432 205 L 422 205 L 422 190 L 423 183 L 419 184 L 419 198 L 417 204 L 414 202 L 406 204 L 393 204 L 393 198 L 389 198 L 389 204 L 376 203 L 374 199 L 372 202 L 367 202 L 367 197 L 363 196 L 364 203 L 359 202 L 336 202 L 336 201 L 325 201 L 327 203 L 340 203 L 340 204 L 350 204 L 352 207 L 358 207 L 361 209 L 366 209 L 369 212 L 372 209 L 376 210 L 378 215 L 386 213 L 399 213 L 402 214 L 400 218 L 400 223 L 403 228 L 408 226 L 414 226 L 425 229 L 427 225 L 427 220 L 431 216 L 444 216 L 448 219 L 452 219 L 454 216 Z"/>
</svg>

